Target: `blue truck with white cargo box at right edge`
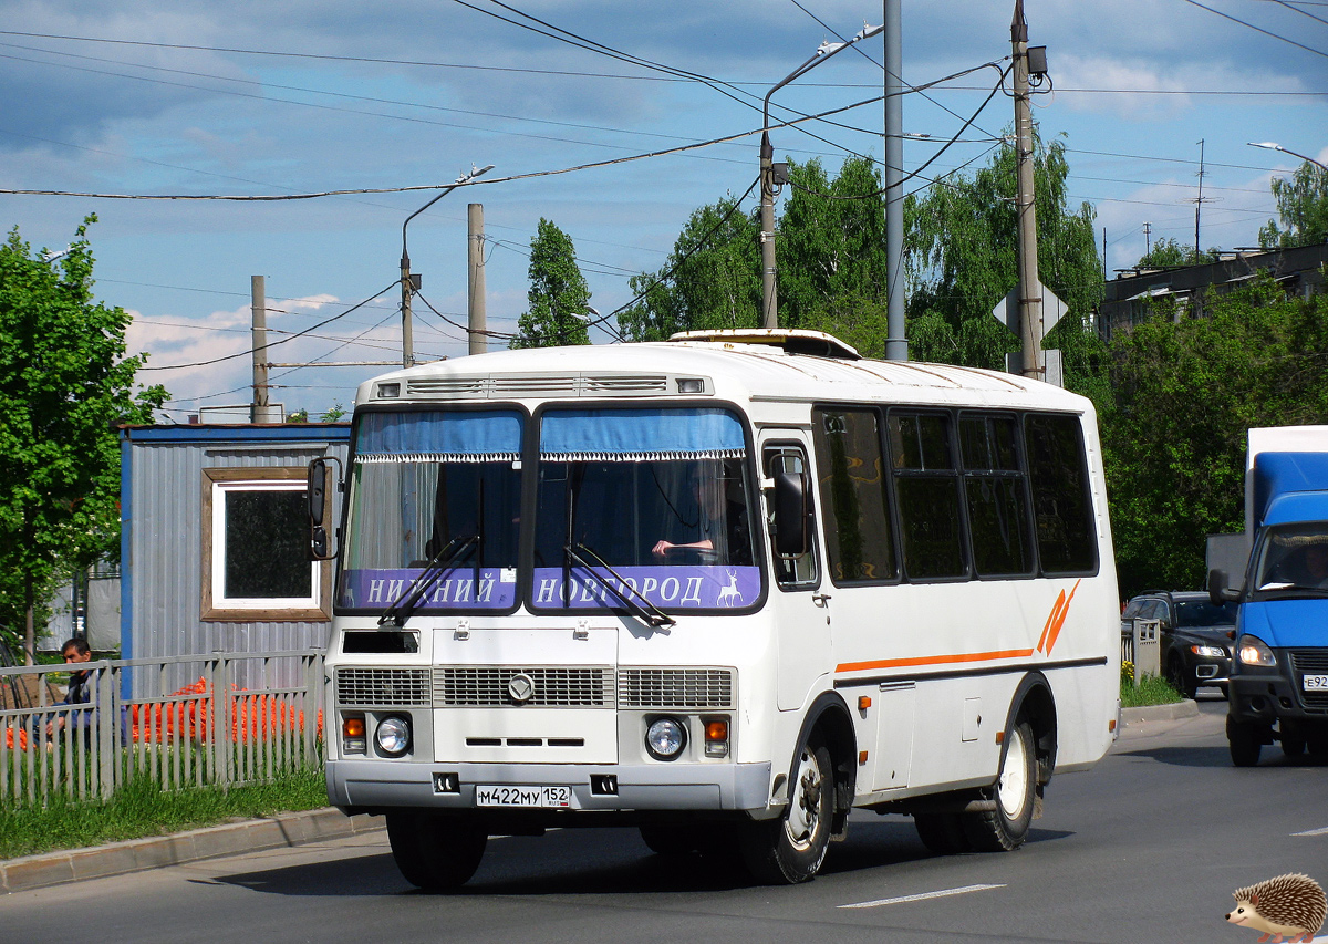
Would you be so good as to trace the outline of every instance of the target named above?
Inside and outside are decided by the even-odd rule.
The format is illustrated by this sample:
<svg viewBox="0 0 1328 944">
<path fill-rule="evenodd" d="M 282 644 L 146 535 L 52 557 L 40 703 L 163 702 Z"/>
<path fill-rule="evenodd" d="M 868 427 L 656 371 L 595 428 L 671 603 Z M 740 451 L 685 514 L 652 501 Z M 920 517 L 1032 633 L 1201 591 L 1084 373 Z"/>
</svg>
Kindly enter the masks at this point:
<svg viewBox="0 0 1328 944">
<path fill-rule="evenodd" d="M 1328 426 L 1251 429 L 1244 579 L 1208 572 L 1214 603 L 1236 600 L 1227 744 L 1238 767 L 1264 745 L 1328 755 Z"/>
</svg>

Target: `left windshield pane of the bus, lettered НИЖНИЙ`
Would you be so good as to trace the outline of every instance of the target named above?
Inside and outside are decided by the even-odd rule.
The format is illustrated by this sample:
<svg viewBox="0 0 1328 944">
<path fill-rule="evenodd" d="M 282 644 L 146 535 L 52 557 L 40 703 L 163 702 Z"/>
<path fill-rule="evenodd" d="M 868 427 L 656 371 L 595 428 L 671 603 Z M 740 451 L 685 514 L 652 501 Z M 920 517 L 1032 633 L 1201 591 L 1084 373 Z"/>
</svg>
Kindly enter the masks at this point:
<svg viewBox="0 0 1328 944">
<path fill-rule="evenodd" d="M 413 611 L 514 607 L 523 422 L 515 410 L 360 414 L 337 607 L 381 612 L 438 559 Z"/>
</svg>

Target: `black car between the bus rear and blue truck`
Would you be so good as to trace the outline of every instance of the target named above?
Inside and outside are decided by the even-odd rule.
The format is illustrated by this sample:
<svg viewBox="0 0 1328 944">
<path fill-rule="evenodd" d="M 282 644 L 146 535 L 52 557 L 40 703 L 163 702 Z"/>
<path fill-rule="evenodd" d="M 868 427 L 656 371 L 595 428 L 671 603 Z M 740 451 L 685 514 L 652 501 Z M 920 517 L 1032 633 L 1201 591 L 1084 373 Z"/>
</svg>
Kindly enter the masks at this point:
<svg viewBox="0 0 1328 944">
<path fill-rule="evenodd" d="M 1157 590 L 1133 597 L 1121 620 L 1159 620 L 1162 674 L 1186 698 L 1201 685 L 1227 693 L 1235 647 L 1236 604 L 1220 607 L 1207 592 Z"/>
</svg>

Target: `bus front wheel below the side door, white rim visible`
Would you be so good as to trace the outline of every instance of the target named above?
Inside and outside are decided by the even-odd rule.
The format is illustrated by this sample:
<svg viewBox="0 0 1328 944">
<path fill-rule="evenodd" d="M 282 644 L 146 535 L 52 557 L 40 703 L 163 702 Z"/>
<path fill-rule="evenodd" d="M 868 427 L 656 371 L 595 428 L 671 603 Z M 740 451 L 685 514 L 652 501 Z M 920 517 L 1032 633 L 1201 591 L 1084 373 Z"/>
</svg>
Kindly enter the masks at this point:
<svg viewBox="0 0 1328 944">
<path fill-rule="evenodd" d="M 834 765 L 813 740 L 798 751 L 784 815 L 742 825 L 738 851 L 752 878 L 772 886 L 813 879 L 826 858 L 833 819 Z"/>
</svg>

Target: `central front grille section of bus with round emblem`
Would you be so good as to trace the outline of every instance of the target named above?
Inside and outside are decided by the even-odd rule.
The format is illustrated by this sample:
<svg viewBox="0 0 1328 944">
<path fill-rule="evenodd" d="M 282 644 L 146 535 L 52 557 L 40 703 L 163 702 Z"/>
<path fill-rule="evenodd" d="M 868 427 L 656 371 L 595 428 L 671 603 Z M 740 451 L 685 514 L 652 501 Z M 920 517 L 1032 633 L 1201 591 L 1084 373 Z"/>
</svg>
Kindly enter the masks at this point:
<svg viewBox="0 0 1328 944">
<path fill-rule="evenodd" d="M 529 678 L 530 697 L 518 701 L 513 680 Z M 517 690 L 525 689 L 517 684 Z M 614 670 L 607 667 L 450 665 L 433 670 L 434 708 L 612 708 Z"/>
</svg>

